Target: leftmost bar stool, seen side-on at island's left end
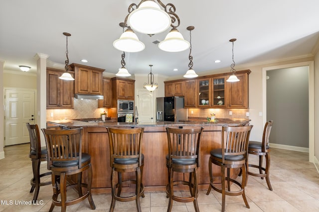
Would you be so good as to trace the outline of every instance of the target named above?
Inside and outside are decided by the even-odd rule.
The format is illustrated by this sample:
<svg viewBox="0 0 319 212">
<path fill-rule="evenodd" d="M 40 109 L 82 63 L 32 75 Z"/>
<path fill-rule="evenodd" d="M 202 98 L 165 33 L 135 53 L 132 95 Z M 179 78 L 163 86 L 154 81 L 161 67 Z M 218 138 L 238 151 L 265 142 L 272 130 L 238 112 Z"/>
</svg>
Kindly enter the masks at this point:
<svg viewBox="0 0 319 212">
<path fill-rule="evenodd" d="M 45 172 L 40 174 L 40 164 L 41 161 L 47 161 L 48 152 L 46 146 L 41 146 L 40 133 L 38 125 L 30 125 L 26 123 L 26 128 L 29 131 L 30 137 L 30 153 L 29 158 L 32 161 L 33 178 L 30 181 L 31 189 L 30 193 L 34 191 L 33 202 L 37 201 L 40 186 L 46 186 L 51 184 L 51 181 L 41 182 L 41 177 L 50 175 L 51 172 Z M 35 190 L 34 190 L 35 189 Z"/>
</svg>

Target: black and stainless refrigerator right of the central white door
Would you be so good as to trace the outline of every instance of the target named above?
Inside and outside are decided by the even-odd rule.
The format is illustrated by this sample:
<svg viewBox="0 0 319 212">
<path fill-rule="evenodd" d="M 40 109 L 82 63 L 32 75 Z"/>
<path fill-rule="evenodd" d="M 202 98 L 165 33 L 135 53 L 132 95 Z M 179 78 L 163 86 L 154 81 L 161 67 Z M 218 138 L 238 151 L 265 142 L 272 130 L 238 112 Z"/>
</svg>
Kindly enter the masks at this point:
<svg viewBox="0 0 319 212">
<path fill-rule="evenodd" d="M 187 120 L 184 97 L 158 97 L 156 98 L 156 111 L 156 121 L 158 122 Z"/>
</svg>

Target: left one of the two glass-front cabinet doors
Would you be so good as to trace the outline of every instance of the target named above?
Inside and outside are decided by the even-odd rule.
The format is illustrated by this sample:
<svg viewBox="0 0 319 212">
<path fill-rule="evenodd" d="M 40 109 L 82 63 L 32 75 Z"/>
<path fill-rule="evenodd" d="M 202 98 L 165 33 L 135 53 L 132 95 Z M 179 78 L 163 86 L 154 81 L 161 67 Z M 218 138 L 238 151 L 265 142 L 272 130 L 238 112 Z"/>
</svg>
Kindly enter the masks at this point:
<svg viewBox="0 0 319 212">
<path fill-rule="evenodd" d="M 198 79 L 198 107 L 210 107 L 210 78 Z"/>
</svg>

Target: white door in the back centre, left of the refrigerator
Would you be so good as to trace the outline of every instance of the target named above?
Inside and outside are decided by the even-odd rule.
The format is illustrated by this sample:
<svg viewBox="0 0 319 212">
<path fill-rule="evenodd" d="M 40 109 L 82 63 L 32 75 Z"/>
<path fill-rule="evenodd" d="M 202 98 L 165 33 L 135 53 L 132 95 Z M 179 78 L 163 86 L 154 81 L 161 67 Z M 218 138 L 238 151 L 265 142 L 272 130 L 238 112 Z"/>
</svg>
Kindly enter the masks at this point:
<svg viewBox="0 0 319 212">
<path fill-rule="evenodd" d="M 154 92 L 148 90 L 138 90 L 138 113 L 139 122 L 154 122 L 155 108 L 154 108 Z"/>
</svg>

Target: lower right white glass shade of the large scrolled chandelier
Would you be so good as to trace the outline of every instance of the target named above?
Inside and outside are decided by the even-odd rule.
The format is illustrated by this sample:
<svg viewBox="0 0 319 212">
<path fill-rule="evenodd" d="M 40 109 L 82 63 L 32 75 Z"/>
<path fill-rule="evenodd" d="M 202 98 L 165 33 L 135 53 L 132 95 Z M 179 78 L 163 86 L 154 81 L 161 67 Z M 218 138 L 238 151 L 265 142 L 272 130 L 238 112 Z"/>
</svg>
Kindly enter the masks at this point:
<svg viewBox="0 0 319 212">
<path fill-rule="evenodd" d="M 181 52 L 188 49 L 189 42 L 184 40 L 182 34 L 177 29 L 171 29 L 165 40 L 159 43 L 160 50 L 165 52 Z"/>
</svg>

